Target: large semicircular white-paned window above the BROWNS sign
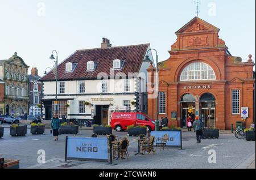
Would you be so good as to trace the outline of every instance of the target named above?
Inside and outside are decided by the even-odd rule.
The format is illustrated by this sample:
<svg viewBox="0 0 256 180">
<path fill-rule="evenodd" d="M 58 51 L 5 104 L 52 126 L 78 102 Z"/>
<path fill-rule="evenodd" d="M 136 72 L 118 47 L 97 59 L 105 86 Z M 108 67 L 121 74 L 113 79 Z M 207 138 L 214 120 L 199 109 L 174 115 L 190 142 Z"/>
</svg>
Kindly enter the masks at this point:
<svg viewBox="0 0 256 180">
<path fill-rule="evenodd" d="M 203 62 L 191 63 L 181 72 L 180 81 L 215 80 L 213 68 Z"/>
</svg>

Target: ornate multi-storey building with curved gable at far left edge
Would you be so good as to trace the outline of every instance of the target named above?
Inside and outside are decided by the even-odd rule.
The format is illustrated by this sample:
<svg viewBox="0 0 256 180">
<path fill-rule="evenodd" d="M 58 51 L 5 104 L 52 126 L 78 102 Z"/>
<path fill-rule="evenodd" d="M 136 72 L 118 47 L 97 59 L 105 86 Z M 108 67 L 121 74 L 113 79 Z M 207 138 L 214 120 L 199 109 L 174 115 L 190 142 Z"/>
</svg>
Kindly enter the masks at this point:
<svg viewBox="0 0 256 180">
<path fill-rule="evenodd" d="M 0 61 L 0 79 L 5 82 L 5 114 L 19 116 L 28 111 L 28 67 L 17 53 Z"/>
</svg>

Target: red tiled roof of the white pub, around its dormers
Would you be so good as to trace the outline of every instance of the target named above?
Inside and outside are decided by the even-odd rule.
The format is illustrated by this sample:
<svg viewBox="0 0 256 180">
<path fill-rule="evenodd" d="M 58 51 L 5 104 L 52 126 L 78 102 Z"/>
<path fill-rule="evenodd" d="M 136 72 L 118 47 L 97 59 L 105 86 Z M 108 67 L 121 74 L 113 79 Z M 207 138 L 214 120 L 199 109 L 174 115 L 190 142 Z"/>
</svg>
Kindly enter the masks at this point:
<svg viewBox="0 0 256 180">
<path fill-rule="evenodd" d="M 150 44 L 142 44 L 77 50 L 58 66 L 58 80 L 96 79 L 100 72 L 105 72 L 109 75 L 110 68 L 113 67 L 114 59 L 121 59 L 125 61 L 121 70 L 114 71 L 115 74 L 123 72 L 128 75 L 129 72 L 139 72 L 149 45 Z M 97 63 L 96 70 L 90 72 L 87 71 L 88 61 Z M 68 62 L 77 63 L 73 72 L 65 72 L 65 64 Z M 53 81 L 55 80 L 55 75 L 51 71 L 39 80 L 43 82 Z"/>
</svg>

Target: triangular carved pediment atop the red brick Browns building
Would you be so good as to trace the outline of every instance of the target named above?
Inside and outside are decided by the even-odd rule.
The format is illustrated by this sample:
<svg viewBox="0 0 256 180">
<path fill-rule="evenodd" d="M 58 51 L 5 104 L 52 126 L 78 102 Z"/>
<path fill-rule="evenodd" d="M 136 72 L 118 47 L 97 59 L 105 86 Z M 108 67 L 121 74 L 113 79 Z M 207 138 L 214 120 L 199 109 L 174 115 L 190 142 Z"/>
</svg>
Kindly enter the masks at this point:
<svg viewBox="0 0 256 180">
<path fill-rule="evenodd" d="M 179 33 L 193 32 L 192 28 L 193 28 L 193 25 L 196 24 L 196 23 L 198 23 L 200 25 L 198 27 L 198 29 L 196 29 L 197 30 L 196 32 L 200 32 L 200 31 L 216 31 L 216 32 L 219 32 L 220 31 L 220 29 L 215 27 L 214 25 L 206 22 L 203 19 L 195 17 L 190 22 L 185 24 L 182 28 L 180 28 L 177 32 L 175 32 L 175 34 L 178 35 Z"/>
</svg>

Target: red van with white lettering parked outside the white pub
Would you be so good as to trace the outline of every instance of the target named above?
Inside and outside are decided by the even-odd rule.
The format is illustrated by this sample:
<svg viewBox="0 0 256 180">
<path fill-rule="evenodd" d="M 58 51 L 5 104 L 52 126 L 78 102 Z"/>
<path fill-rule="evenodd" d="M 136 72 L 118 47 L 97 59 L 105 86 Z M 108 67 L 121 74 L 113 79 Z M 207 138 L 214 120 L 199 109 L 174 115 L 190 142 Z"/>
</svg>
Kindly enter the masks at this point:
<svg viewBox="0 0 256 180">
<path fill-rule="evenodd" d="M 116 131 L 123 131 L 130 125 L 147 126 L 148 130 L 155 130 L 155 120 L 149 118 L 146 114 L 137 112 L 114 112 L 111 115 L 110 126 Z"/>
</svg>

